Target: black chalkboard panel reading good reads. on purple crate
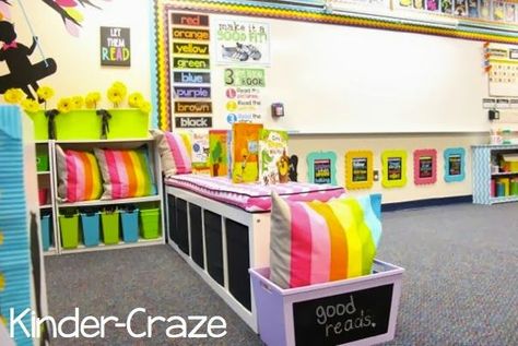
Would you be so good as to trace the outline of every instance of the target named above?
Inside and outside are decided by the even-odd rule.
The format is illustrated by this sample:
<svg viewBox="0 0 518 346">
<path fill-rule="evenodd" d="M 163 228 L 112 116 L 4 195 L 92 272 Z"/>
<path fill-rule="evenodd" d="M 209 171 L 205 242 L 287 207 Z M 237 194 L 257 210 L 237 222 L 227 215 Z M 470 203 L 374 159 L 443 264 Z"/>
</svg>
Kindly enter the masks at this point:
<svg viewBox="0 0 518 346">
<path fill-rule="evenodd" d="M 388 332 L 393 284 L 293 303 L 295 344 L 340 345 Z"/>
</svg>

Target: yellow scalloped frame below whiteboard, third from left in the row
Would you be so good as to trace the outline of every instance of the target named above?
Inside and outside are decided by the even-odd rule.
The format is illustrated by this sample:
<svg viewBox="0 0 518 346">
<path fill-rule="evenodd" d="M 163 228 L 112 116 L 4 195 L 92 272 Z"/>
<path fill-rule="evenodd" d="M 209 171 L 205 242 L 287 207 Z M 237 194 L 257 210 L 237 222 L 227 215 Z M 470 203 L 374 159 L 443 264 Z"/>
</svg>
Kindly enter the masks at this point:
<svg viewBox="0 0 518 346">
<path fill-rule="evenodd" d="M 381 186 L 402 188 L 407 184 L 407 152 L 385 151 L 381 153 Z"/>
</svg>

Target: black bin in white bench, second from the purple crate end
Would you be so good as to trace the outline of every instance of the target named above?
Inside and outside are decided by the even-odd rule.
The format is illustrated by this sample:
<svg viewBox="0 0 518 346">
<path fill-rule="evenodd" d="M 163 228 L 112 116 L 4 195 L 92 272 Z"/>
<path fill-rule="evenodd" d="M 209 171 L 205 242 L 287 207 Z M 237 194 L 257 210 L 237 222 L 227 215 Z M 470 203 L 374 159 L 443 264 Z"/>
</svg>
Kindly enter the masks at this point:
<svg viewBox="0 0 518 346">
<path fill-rule="evenodd" d="M 207 271 L 213 279 L 224 286 L 221 216 L 209 211 L 204 211 L 203 216 L 205 226 Z"/>
</svg>

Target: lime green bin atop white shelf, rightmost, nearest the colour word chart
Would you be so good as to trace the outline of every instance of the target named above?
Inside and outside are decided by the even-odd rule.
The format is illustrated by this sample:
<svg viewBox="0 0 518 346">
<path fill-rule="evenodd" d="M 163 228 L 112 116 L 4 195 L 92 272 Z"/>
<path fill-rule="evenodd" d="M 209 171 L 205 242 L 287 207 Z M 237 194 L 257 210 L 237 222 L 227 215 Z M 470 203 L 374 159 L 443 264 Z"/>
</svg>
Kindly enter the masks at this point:
<svg viewBox="0 0 518 346">
<path fill-rule="evenodd" d="M 140 109 L 109 109 L 108 140 L 145 139 L 150 136 L 150 115 Z"/>
</svg>

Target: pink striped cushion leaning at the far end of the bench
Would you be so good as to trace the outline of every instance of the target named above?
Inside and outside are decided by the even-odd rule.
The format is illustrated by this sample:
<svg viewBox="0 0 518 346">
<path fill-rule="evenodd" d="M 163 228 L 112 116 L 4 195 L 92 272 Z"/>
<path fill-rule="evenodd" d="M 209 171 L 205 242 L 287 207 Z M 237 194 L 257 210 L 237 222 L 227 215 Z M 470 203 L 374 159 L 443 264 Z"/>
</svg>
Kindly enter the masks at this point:
<svg viewBox="0 0 518 346">
<path fill-rule="evenodd" d="M 164 175 L 185 175 L 192 172 L 190 158 L 190 138 L 188 133 L 173 133 L 152 130 L 158 147 Z"/>
</svg>

